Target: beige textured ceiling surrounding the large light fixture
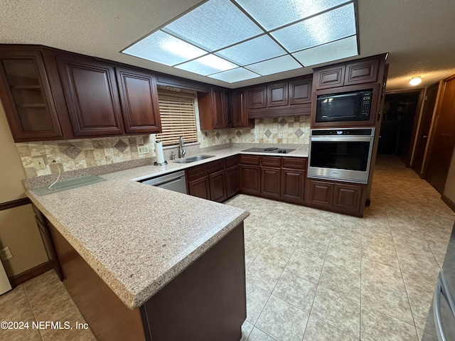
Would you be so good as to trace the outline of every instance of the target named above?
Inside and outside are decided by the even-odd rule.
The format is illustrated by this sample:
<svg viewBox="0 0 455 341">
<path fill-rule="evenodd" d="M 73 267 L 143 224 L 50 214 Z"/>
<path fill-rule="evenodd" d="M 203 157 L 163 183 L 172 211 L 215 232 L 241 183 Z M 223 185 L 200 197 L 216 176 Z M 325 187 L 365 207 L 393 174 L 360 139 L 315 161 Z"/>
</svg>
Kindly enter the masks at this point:
<svg viewBox="0 0 455 341">
<path fill-rule="evenodd" d="M 0 0 L 0 43 L 47 45 L 171 75 L 241 87 L 306 75 L 311 67 L 228 85 L 119 51 L 200 3 L 199 0 Z M 358 0 L 360 57 L 390 53 L 387 90 L 419 87 L 455 73 L 453 0 Z M 350 58 L 353 59 L 353 58 Z"/>
</svg>

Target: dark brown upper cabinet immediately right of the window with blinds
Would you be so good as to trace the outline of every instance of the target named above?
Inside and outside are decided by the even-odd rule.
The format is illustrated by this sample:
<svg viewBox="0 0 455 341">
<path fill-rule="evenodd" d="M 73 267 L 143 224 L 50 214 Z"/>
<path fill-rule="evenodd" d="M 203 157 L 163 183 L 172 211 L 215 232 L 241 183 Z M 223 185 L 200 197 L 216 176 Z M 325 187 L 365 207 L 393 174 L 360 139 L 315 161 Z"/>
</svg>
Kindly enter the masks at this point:
<svg viewBox="0 0 455 341">
<path fill-rule="evenodd" d="M 227 92 L 222 87 L 210 87 L 209 92 L 198 92 L 200 130 L 232 127 L 228 110 Z"/>
</svg>

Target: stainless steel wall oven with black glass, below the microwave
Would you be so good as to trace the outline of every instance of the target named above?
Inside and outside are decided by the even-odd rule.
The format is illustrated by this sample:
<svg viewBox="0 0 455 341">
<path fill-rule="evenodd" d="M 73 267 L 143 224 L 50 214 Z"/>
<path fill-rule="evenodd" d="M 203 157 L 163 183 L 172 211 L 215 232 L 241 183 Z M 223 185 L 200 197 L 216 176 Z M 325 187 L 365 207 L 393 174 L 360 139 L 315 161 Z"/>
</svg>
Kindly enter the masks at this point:
<svg viewBox="0 0 455 341">
<path fill-rule="evenodd" d="M 311 129 L 309 178 L 368 183 L 375 128 Z"/>
</svg>

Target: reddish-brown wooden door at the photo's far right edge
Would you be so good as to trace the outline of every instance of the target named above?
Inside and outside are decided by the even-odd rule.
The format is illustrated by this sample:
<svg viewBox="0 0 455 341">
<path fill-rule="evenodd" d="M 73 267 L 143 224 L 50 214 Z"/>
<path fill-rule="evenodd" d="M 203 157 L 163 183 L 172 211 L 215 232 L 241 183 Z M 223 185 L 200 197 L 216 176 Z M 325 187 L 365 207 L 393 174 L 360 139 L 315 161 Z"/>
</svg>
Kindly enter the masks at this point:
<svg viewBox="0 0 455 341">
<path fill-rule="evenodd" d="M 439 193 L 444 192 L 455 147 L 455 75 L 444 80 L 430 143 L 425 177 Z"/>
</svg>

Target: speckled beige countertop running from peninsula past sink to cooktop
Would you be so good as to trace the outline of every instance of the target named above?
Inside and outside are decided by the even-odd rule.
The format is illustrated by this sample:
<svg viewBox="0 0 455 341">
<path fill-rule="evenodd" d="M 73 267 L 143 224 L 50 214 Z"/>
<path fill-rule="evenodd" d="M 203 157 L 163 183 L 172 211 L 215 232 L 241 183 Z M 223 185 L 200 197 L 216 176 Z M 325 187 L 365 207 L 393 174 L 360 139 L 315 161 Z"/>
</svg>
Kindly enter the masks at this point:
<svg viewBox="0 0 455 341">
<path fill-rule="evenodd" d="M 102 174 L 100 183 L 39 196 L 26 194 L 129 308 L 144 304 L 248 216 L 237 207 L 132 179 L 179 171 L 242 153 L 211 151 L 194 163 L 168 161 Z M 306 157 L 306 150 L 276 156 Z"/>
</svg>

